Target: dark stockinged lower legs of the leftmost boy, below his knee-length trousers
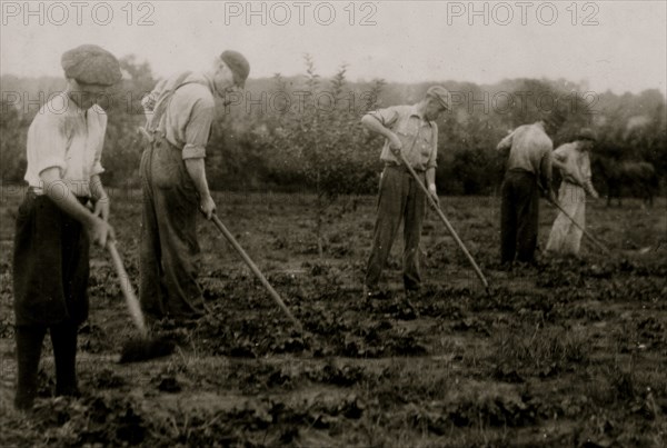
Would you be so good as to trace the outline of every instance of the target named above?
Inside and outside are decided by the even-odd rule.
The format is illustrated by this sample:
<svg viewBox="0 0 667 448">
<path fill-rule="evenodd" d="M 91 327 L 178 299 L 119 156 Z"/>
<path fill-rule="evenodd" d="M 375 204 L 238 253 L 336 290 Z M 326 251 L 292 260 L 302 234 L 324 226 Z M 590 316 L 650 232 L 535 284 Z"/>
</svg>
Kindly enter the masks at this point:
<svg viewBox="0 0 667 448">
<path fill-rule="evenodd" d="M 56 395 L 78 396 L 77 387 L 77 332 L 71 323 L 43 326 L 18 326 L 16 328 L 18 387 L 14 406 L 30 409 L 37 396 L 38 368 L 41 347 L 49 329 L 56 359 Z"/>
</svg>

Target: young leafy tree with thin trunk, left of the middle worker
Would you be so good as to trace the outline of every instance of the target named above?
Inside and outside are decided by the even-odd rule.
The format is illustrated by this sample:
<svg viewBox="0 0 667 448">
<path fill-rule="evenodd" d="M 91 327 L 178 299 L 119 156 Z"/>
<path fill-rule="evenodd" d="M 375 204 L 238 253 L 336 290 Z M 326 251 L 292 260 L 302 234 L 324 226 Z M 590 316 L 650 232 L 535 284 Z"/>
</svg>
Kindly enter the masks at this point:
<svg viewBox="0 0 667 448">
<path fill-rule="evenodd" d="M 361 96 L 360 107 L 346 86 L 347 66 L 341 66 L 326 84 L 315 70 L 315 62 L 305 56 L 306 82 L 298 93 L 299 101 L 277 116 L 271 136 L 282 167 L 298 173 L 305 187 L 315 191 L 313 218 L 318 253 L 325 250 L 323 225 L 328 209 L 342 195 L 367 191 L 375 182 L 371 138 L 360 125 L 364 112 L 372 109 L 384 86 L 377 80 Z M 276 76 L 276 91 L 291 98 L 287 84 Z M 293 96 L 293 94 L 292 94 Z"/>
</svg>

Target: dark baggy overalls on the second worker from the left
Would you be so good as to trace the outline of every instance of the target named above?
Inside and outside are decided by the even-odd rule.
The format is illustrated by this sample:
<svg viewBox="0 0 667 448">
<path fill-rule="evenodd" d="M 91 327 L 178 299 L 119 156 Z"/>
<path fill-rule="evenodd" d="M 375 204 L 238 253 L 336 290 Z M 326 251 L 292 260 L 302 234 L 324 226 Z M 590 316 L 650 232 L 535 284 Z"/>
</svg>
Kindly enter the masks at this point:
<svg viewBox="0 0 667 448">
<path fill-rule="evenodd" d="M 152 318 L 203 315 L 197 283 L 199 198 L 182 152 L 156 132 L 141 157 L 143 222 L 139 296 Z"/>
</svg>

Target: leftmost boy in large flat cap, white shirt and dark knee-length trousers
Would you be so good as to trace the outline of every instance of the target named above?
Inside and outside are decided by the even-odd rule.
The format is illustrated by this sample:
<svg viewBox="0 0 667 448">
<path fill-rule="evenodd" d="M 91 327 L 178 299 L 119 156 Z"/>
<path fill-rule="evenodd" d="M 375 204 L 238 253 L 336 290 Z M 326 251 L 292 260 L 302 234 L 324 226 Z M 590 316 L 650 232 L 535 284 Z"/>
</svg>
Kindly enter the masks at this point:
<svg viewBox="0 0 667 448">
<path fill-rule="evenodd" d="M 89 243 L 113 238 L 100 180 L 107 116 L 100 96 L 121 79 L 118 60 L 97 46 L 62 54 L 67 89 L 28 130 L 26 180 L 13 253 L 18 387 L 14 406 L 30 409 L 47 330 L 56 358 L 56 392 L 78 395 L 78 327 L 88 317 Z M 86 205 L 92 201 L 94 210 Z"/>
</svg>

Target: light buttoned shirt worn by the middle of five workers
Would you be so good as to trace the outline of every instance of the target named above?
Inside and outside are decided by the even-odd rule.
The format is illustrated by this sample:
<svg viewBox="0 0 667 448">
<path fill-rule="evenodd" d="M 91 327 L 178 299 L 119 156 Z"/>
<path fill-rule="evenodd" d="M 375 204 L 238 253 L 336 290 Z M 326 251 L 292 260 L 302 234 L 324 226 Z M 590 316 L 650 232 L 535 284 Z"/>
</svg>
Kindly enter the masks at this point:
<svg viewBox="0 0 667 448">
<path fill-rule="evenodd" d="M 402 155 L 412 168 L 425 171 L 437 167 L 438 126 L 435 121 L 426 120 L 416 104 L 392 106 L 369 115 L 396 133 L 402 143 Z M 389 145 L 389 140 L 386 139 L 380 160 L 385 163 L 402 165 L 394 156 Z"/>
</svg>

